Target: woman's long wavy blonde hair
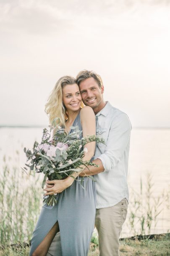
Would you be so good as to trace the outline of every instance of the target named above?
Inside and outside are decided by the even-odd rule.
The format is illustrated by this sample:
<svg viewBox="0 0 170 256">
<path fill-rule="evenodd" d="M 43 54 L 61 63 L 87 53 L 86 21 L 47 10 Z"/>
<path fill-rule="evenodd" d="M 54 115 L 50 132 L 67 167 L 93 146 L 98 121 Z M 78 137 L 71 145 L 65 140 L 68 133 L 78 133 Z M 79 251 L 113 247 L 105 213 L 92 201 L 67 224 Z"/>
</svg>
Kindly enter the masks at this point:
<svg viewBox="0 0 170 256">
<path fill-rule="evenodd" d="M 62 100 L 63 88 L 65 85 L 73 85 L 75 83 L 76 79 L 74 77 L 64 76 L 55 84 L 55 87 L 50 93 L 47 103 L 45 104 L 45 112 L 49 116 L 50 125 L 53 120 L 58 117 L 60 120 L 58 124 L 65 127 L 65 121 L 68 118 L 68 113 Z M 83 104 L 81 104 L 81 107 L 83 107 Z"/>
</svg>

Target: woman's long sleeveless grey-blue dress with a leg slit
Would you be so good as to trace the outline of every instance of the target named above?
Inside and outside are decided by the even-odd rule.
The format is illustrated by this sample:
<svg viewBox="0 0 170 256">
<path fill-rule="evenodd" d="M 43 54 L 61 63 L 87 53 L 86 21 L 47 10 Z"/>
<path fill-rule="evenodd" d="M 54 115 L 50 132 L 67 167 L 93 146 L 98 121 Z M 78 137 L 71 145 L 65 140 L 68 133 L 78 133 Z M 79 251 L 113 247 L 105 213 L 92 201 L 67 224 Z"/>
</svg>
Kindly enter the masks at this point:
<svg viewBox="0 0 170 256">
<path fill-rule="evenodd" d="M 82 130 L 80 113 L 73 122 L 73 126 L 77 125 Z M 96 190 L 92 179 L 79 179 L 84 179 L 85 189 L 75 180 L 70 187 L 57 195 L 58 203 L 55 206 L 45 204 L 42 207 L 31 240 L 30 256 L 57 221 L 62 256 L 87 256 L 94 229 Z M 57 252 L 55 255 L 57 256 Z"/>
</svg>

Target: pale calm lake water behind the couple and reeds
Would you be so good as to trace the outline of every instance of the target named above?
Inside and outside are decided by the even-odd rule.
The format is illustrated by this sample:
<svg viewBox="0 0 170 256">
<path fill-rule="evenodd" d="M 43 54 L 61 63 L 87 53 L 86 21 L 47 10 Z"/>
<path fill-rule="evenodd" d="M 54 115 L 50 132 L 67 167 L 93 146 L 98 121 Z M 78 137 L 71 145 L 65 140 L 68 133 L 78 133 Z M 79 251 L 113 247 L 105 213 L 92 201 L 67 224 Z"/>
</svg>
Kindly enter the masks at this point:
<svg viewBox="0 0 170 256">
<path fill-rule="evenodd" d="M 34 141 L 41 141 L 42 128 L 0 128 L 0 167 L 3 156 L 11 158 L 10 164 L 24 166 L 26 156 L 24 147 L 32 148 Z M 19 157 L 16 157 L 16 151 Z M 0 171 L 1 172 L 1 171 Z M 152 176 L 150 199 L 148 199 L 148 173 Z M 141 195 L 142 180 L 142 195 Z M 152 212 L 157 213 L 156 226 L 152 221 L 150 233 L 164 233 L 170 230 L 170 129 L 133 129 L 129 155 L 128 185 L 130 202 L 128 217 L 123 226 L 122 237 L 134 234 L 129 226 L 129 216 L 135 211 L 135 195 L 142 201 L 141 208 L 136 213 L 135 229 L 140 229 L 141 211 L 146 213 L 147 202 L 150 200 Z M 135 191 L 135 192 L 134 192 Z M 157 203 L 160 197 L 159 206 Z M 139 232 L 139 231 L 138 231 Z M 170 231 L 169 231 L 170 232 Z M 147 232 L 146 232 L 147 233 Z"/>
</svg>

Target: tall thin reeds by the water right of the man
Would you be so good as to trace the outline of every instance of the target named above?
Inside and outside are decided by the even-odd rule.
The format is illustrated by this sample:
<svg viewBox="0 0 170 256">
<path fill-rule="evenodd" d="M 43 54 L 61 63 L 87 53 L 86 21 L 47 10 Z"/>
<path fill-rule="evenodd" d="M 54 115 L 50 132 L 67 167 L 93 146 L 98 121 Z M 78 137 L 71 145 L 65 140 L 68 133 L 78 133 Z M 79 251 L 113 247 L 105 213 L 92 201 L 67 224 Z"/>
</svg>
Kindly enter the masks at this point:
<svg viewBox="0 0 170 256">
<path fill-rule="evenodd" d="M 163 211 L 165 202 L 169 201 L 170 191 L 162 192 L 155 198 L 154 189 L 156 188 L 152 181 L 152 174 L 149 172 L 146 175 L 146 186 L 142 179 L 140 180 L 139 192 L 130 188 L 130 204 L 126 222 L 133 235 L 150 234 L 151 228 L 153 232 L 156 231 L 158 216 Z"/>
</svg>

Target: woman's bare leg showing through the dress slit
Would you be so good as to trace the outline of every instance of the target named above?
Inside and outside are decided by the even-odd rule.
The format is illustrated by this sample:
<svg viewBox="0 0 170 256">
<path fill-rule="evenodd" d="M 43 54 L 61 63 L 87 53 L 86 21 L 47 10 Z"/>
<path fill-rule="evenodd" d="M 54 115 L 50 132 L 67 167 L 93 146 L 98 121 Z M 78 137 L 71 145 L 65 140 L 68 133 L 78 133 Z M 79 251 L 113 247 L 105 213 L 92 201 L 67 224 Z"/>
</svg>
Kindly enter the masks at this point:
<svg viewBox="0 0 170 256">
<path fill-rule="evenodd" d="M 52 229 L 48 232 L 46 237 L 42 240 L 42 242 L 38 245 L 35 251 L 32 253 L 32 256 L 46 256 L 48 249 L 54 239 L 56 233 L 59 232 L 58 221 L 54 224 Z"/>
</svg>

